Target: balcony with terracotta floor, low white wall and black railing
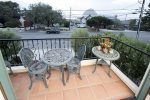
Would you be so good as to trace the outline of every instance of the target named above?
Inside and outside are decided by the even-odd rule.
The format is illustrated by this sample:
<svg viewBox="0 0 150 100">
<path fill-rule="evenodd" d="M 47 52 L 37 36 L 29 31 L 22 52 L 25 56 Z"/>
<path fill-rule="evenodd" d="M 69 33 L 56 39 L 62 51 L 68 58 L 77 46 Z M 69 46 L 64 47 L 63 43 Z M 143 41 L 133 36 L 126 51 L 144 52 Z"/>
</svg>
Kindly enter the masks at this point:
<svg viewBox="0 0 150 100">
<path fill-rule="evenodd" d="M 105 38 L 105 37 L 103 37 Z M 107 37 L 110 38 L 110 37 Z M 50 39 L 22 39 L 22 40 L 0 40 L 3 47 L 1 49 L 5 60 L 11 61 L 13 75 L 10 79 L 18 100 L 118 100 L 134 99 L 150 61 L 150 55 L 133 46 L 123 43 L 119 40 L 110 38 L 121 57 L 114 61 L 111 66 L 111 77 L 107 75 L 108 66 L 98 66 L 94 74 L 92 70 L 95 65 L 95 56 L 91 49 L 98 45 L 98 38 L 50 38 Z M 72 74 L 69 82 L 64 86 L 61 82 L 61 73 L 58 70 L 52 70 L 50 79 L 47 80 L 48 89 L 44 87 L 41 81 L 33 83 L 31 90 L 29 87 L 29 77 L 27 70 L 22 66 L 18 59 L 18 50 L 20 48 L 30 48 L 36 54 L 35 59 L 40 60 L 42 55 L 52 48 L 67 48 L 70 51 L 76 51 L 79 44 L 86 44 L 87 52 L 81 65 L 80 80 L 75 74 Z M 79 42 L 82 41 L 82 42 Z M 95 42 L 96 41 L 96 42 Z M 16 46 L 16 44 L 19 44 Z M 73 48 L 72 48 L 73 47 Z M 122 50 L 121 48 L 124 48 Z M 138 55 L 138 56 L 137 56 Z M 138 57 L 138 58 L 137 58 Z M 144 59 L 143 59 L 144 58 Z M 138 62 L 143 62 L 139 64 Z M 106 61 L 108 62 L 108 61 Z M 19 67 L 17 67 L 19 66 Z M 137 66 L 138 68 L 136 68 Z M 142 69 L 139 69 L 142 66 Z M 133 68 L 132 68 L 133 67 Z M 20 69 L 22 68 L 22 69 Z M 131 70 L 135 69 L 135 71 Z M 15 73 L 16 72 L 16 73 Z M 18 73 L 19 72 L 19 73 Z M 22 72 L 22 73 L 20 73 Z M 66 76 L 66 72 L 65 72 Z"/>
</svg>

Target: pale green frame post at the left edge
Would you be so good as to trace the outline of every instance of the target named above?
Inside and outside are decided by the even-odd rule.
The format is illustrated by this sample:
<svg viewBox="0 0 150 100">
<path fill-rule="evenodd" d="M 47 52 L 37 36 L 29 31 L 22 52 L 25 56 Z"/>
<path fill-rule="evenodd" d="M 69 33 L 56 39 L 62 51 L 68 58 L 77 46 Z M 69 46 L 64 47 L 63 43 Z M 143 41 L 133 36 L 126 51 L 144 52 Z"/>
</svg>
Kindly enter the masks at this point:
<svg viewBox="0 0 150 100">
<path fill-rule="evenodd" d="M 1 51 L 0 51 L 0 82 L 2 83 L 2 87 L 4 89 L 7 99 L 16 100 L 16 96 L 13 91 L 8 72 L 6 71 L 6 66 L 4 64 Z"/>
</svg>

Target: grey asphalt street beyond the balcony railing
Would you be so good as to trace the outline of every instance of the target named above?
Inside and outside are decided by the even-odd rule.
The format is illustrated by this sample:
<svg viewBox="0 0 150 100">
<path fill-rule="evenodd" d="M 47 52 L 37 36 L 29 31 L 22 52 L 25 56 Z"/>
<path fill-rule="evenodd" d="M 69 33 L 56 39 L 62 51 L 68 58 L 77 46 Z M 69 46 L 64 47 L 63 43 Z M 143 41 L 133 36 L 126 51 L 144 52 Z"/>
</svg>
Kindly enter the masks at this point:
<svg viewBox="0 0 150 100">
<path fill-rule="evenodd" d="M 90 34 L 97 35 L 103 32 L 113 32 L 116 35 L 123 32 L 128 37 L 136 38 L 136 31 L 131 31 L 131 30 L 116 31 L 116 30 L 101 29 L 100 32 L 90 32 Z M 71 32 L 61 32 L 60 34 L 46 34 L 45 31 L 26 31 L 26 32 L 21 32 L 17 34 L 21 36 L 22 39 L 70 38 L 71 37 Z M 150 44 L 150 32 L 141 31 L 139 35 L 139 40 Z"/>
</svg>

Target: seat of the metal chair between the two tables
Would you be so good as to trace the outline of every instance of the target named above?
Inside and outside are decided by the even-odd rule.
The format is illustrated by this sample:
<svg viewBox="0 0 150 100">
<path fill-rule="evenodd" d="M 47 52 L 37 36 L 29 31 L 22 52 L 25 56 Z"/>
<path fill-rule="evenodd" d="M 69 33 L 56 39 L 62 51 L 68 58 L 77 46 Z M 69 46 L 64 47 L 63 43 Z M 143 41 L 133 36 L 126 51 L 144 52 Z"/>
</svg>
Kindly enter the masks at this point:
<svg viewBox="0 0 150 100">
<path fill-rule="evenodd" d="M 80 60 L 77 58 L 72 58 L 68 63 L 67 67 L 69 69 L 73 69 L 74 67 L 78 67 L 80 65 Z"/>
</svg>

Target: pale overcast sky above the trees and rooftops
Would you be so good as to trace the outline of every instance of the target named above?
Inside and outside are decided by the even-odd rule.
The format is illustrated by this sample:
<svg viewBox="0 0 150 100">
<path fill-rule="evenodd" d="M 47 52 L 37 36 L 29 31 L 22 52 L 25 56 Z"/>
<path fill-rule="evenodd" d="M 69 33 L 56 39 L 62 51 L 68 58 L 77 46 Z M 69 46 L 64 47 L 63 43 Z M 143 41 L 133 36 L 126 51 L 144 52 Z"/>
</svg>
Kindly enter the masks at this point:
<svg viewBox="0 0 150 100">
<path fill-rule="evenodd" d="M 10 1 L 10 0 L 2 0 Z M 116 16 L 120 20 L 125 19 L 138 19 L 139 14 L 131 14 L 135 12 L 135 9 L 139 9 L 142 4 L 142 0 L 11 0 L 17 2 L 20 8 L 27 8 L 29 4 L 45 3 L 53 7 L 54 10 L 68 10 L 63 11 L 63 15 L 69 18 L 71 8 L 71 18 L 81 17 L 84 10 L 94 9 L 98 15 L 104 16 Z M 150 0 L 145 0 L 145 9 L 148 9 Z M 82 10 L 82 11 L 74 11 Z M 105 11 L 104 11 L 105 10 Z"/>
</svg>

